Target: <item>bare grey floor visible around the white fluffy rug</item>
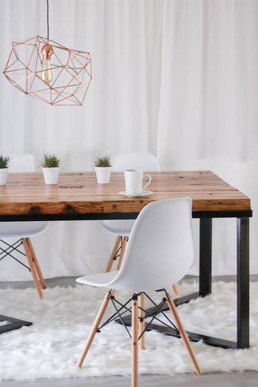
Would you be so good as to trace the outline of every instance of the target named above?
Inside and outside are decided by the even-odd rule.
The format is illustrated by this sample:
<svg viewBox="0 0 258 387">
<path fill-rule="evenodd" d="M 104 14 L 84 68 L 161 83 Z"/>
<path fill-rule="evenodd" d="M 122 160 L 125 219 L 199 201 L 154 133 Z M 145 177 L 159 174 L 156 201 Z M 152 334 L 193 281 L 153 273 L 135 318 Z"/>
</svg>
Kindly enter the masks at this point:
<svg viewBox="0 0 258 387">
<path fill-rule="evenodd" d="M 193 277 L 186 277 L 184 281 L 192 282 Z M 225 282 L 235 280 L 233 276 L 216 277 L 214 281 L 224 280 Z M 251 281 L 257 281 L 258 276 L 251 276 Z M 74 278 L 53 278 L 46 280 L 47 286 L 73 286 Z M 12 286 L 16 289 L 25 289 L 33 286 L 32 282 L 1 282 L 0 288 Z M 139 377 L 139 387 L 255 387 L 258 384 L 258 372 L 246 371 L 244 373 L 211 373 L 198 377 L 195 374 L 189 375 L 146 375 Z M 131 379 L 129 377 L 98 377 L 94 379 L 39 379 L 37 381 L 2 381 L 3 387 L 130 387 Z"/>
</svg>

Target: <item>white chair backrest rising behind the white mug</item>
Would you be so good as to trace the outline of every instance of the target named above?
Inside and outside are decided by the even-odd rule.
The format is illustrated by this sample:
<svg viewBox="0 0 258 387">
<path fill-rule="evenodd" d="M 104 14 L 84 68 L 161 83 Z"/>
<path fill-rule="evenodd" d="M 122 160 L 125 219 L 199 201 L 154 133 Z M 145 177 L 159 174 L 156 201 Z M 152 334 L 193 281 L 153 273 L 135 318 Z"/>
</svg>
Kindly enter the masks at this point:
<svg viewBox="0 0 258 387">
<path fill-rule="evenodd" d="M 142 169 L 143 171 L 160 171 L 158 160 L 151 153 L 129 152 L 115 154 L 112 158 L 112 171 L 125 169 Z"/>
</svg>

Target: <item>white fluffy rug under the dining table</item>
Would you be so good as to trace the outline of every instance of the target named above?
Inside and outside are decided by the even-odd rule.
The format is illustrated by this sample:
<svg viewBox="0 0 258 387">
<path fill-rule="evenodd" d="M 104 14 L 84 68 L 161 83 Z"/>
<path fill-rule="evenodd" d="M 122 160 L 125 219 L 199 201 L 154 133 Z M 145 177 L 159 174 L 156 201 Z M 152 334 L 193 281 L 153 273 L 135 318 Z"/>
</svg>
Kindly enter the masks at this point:
<svg viewBox="0 0 258 387">
<path fill-rule="evenodd" d="M 196 285 L 183 284 L 181 293 Z M 235 341 L 236 286 L 213 284 L 213 294 L 178 307 L 186 330 Z M 97 333 L 83 368 L 76 367 L 87 333 L 105 295 L 105 289 L 46 289 L 39 300 L 35 289 L 0 290 L 0 313 L 33 322 L 0 335 L 0 381 L 37 378 L 131 375 L 131 345 L 122 326 L 112 323 Z M 250 348 L 224 350 L 193 343 L 202 371 L 228 372 L 258 369 L 258 283 L 250 284 Z M 146 334 L 147 349 L 140 351 L 141 374 L 193 373 L 181 339 Z"/>
</svg>

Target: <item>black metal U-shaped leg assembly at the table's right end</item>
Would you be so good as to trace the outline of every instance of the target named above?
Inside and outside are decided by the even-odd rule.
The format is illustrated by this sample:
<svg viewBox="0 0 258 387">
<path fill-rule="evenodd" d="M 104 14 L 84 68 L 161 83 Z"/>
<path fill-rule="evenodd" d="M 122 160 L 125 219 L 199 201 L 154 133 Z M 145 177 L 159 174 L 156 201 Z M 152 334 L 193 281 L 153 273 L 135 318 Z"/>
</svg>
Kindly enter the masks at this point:
<svg viewBox="0 0 258 387">
<path fill-rule="evenodd" d="M 235 216 L 238 214 L 236 213 Z M 244 213 L 243 213 L 243 216 Z M 250 214 L 251 216 L 251 214 Z M 223 216 L 222 216 L 223 217 Z M 212 291 L 212 218 L 200 218 L 200 283 L 199 291 L 174 300 L 175 306 L 205 297 Z M 163 310 L 167 310 L 166 304 Z M 153 313 L 153 308 L 147 310 Z M 152 312 L 151 312 L 152 311 Z M 117 322 L 120 322 L 117 320 Z M 123 317 L 123 322 L 131 325 L 131 315 Z M 237 342 L 230 342 L 217 337 L 210 337 L 193 332 L 186 332 L 194 342 L 203 340 L 211 346 L 244 349 L 249 347 L 249 218 L 237 218 Z M 171 328 L 150 324 L 148 330 L 162 332 L 166 335 L 180 337 Z"/>
</svg>

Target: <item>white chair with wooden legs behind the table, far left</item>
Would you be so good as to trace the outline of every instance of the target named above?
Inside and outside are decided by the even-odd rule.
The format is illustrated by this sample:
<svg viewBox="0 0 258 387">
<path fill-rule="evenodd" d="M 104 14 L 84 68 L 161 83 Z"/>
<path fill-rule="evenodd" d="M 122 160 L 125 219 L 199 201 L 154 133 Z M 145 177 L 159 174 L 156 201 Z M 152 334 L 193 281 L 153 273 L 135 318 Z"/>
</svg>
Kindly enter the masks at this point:
<svg viewBox="0 0 258 387">
<path fill-rule="evenodd" d="M 9 163 L 9 172 L 32 172 L 36 170 L 34 156 L 31 154 L 11 155 L 12 159 Z M 8 183 L 7 183 L 8 184 Z M 27 267 L 32 273 L 32 278 L 36 286 L 36 291 L 40 298 L 43 298 L 42 289 L 46 288 L 39 262 L 36 258 L 35 251 L 32 247 L 30 238 L 32 236 L 43 233 L 48 227 L 48 222 L 0 222 L 0 260 L 10 257 Z M 16 239 L 16 242 L 9 244 L 7 240 Z M 25 253 L 19 249 L 23 245 Z M 14 256 L 14 251 L 21 255 L 25 255 L 28 260 L 26 266 L 17 256 Z"/>
</svg>

